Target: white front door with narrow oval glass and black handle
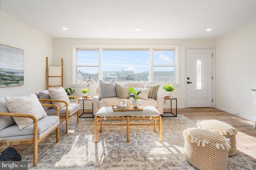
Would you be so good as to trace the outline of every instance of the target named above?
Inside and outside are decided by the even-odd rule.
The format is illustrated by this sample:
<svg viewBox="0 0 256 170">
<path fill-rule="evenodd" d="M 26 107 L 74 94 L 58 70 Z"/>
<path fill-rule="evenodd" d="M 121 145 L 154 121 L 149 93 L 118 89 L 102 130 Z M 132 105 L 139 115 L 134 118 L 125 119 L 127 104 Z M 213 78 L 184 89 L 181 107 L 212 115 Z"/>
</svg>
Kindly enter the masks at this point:
<svg viewBox="0 0 256 170">
<path fill-rule="evenodd" d="M 187 107 L 212 107 L 212 49 L 186 49 Z"/>
</svg>

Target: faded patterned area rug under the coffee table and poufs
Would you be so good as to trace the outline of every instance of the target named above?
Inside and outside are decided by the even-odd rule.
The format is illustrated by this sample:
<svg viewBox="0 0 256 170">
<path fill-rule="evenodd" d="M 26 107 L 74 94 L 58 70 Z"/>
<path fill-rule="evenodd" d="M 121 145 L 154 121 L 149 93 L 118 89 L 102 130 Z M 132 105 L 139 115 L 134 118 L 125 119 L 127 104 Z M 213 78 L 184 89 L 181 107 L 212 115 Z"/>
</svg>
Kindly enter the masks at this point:
<svg viewBox="0 0 256 170">
<path fill-rule="evenodd" d="M 38 165 L 33 166 L 33 146 L 21 153 L 28 161 L 28 169 L 52 170 L 196 170 L 184 156 L 184 129 L 196 127 L 185 117 L 162 118 L 162 142 L 158 141 L 158 129 L 153 126 L 131 126 L 130 142 L 126 142 L 125 126 L 105 126 L 98 143 L 94 143 L 94 119 L 76 117 L 69 120 L 69 133 L 65 121 L 60 125 L 60 142 L 56 133 L 38 143 Z M 123 120 L 103 121 L 124 123 Z M 130 123 L 149 123 L 148 120 L 130 120 Z M 210 161 L 210 160 L 209 160 Z M 228 170 L 253 170 L 256 163 L 239 151 L 228 158 Z"/>
</svg>

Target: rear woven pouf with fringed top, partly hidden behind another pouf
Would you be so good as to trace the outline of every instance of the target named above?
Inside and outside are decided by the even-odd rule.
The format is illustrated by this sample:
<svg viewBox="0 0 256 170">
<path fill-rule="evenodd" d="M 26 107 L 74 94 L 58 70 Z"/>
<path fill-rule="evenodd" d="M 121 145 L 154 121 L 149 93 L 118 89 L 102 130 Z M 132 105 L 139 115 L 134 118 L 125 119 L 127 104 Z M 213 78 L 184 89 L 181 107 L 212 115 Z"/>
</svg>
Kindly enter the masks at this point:
<svg viewBox="0 0 256 170">
<path fill-rule="evenodd" d="M 218 120 L 203 120 L 197 121 L 197 127 L 213 131 L 229 138 L 231 142 L 231 149 L 228 151 L 228 156 L 236 155 L 237 130 L 233 126 Z"/>
</svg>

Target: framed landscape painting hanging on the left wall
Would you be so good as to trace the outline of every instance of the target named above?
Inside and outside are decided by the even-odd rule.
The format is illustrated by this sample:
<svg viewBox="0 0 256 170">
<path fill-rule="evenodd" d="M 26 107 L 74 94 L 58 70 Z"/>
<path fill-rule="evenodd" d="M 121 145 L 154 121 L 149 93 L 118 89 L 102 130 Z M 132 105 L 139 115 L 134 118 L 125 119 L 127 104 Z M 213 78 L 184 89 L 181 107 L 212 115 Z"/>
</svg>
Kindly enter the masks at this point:
<svg viewBox="0 0 256 170">
<path fill-rule="evenodd" d="M 0 44 L 0 87 L 24 85 L 24 50 Z"/>
</svg>

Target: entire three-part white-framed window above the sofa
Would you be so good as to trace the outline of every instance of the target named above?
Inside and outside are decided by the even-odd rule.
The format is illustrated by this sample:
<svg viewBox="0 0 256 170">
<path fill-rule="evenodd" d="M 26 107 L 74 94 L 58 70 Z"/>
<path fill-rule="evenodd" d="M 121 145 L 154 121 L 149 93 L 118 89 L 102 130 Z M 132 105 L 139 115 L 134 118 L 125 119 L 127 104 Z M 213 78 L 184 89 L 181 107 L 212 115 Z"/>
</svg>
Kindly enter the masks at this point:
<svg viewBox="0 0 256 170">
<path fill-rule="evenodd" d="M 74 46 L 73 46 L 74 47 Z M 74 47 L 73 84 L 94 82 L 156 82 L 178 84 L 177 48 Z"/>
</svg>

